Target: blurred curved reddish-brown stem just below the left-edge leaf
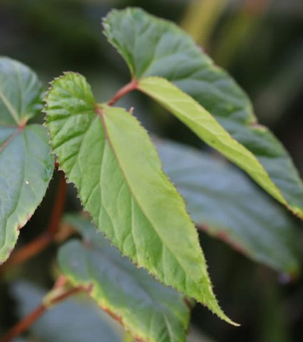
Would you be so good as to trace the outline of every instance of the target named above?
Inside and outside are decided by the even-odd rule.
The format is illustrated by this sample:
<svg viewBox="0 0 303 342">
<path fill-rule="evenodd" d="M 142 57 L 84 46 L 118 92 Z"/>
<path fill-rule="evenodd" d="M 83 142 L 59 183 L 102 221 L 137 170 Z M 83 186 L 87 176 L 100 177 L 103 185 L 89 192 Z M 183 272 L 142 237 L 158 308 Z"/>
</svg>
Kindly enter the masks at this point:
<svg viewBox="0 0 303 342">
<path fill-rule="evenodd" d="M 60 178 L 58 190 L 53 204 L 53 212 L 51 214 L 51 219 L 48 223 L 46 232 L 41 234 L 39 237 L 36 237 L 36 239 L 29 242 L 29 244 L 26 244 L 24 247 L 21 247 L 19 250 L 11 254 L 11 257 L 6 262 L 6 264 L 1 266 L 0 273 L 6 271 L 6 269 L 11 268 L 12 266 L 16 266 L 17 264 L 21 264 L 22 262 L 31 259 L 31 257 L 34 257 L 34 255 L 41 252 L 53 242 L 53 238 L 56 235 L 58 225 L 61 221 L 66 199 L 66 180 L 64 178 L 63 172 L 60 171 L 59 173 Z"/>
</svg>

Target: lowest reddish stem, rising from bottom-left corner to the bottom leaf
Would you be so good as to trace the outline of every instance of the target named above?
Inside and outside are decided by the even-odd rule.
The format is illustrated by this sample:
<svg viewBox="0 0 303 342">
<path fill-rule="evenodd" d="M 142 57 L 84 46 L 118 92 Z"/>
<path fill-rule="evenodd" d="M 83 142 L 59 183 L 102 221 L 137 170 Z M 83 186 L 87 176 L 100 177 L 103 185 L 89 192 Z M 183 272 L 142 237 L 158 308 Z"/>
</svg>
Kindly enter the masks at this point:
<svg viewBox="0 0 303 342">
<path fill-rule="evenodd" d="M 52 306 L 59 304 L 61 301 L 68 299 L 68 297 L 73 296 L 73 294 L 77 294 L 80 291 L 87 291 L 87 289 L 83 286 L 74 287 L 73 289 L 70 289 L 64 292 L 63 294 L 54 297 L 51 300 L 50 304 Z M 31 324 L 33 324 L 47 309 L 48 306 L 46 306 L 43 303 L 40 304 L 36 309 L 34 309 L 34 311 L 31 311 L 31 313 L 28 316 L 26 316 L 25 318 L 21 319 L 21 321 L 16 323 L 16 325 L 13 326 L 13 328 L 11 328 L 11 330 L 8 333 L 6 333 L 6 335 L 3 338 L 1 338 L 0 342 L 12 341 L 13 338 L 16 338 L 21 333 L 26 331 L 26 329 L 29 328 L 29 326 L 31 326 Z"/>
</svg>

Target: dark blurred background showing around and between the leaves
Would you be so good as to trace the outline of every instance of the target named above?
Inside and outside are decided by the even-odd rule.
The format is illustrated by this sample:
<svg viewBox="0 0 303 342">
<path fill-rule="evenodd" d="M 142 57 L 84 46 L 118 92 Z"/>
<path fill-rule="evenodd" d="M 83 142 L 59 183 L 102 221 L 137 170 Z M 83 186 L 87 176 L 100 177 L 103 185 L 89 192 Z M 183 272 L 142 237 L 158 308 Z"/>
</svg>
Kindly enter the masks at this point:
<svg viewBox="0 0 303 342">
<path fill-rule="evenodd" d="M 96 98 L 105 101 L 129 81 L 129 73 L 101 34 L 101 17 L 126 6 L 140 6 L 183 26 L 247 91 L 260 122 L 282 140 L 303 174 L 302 0 L 1 0 L 0 54 L 29 65 L 45 86 L 63 71 L 83 73 Z M 133 106 L 149 131 L 202 148 L 187 128 L 144 96 L 131 93 L 119 105 Z M 56 182 L 54 175 L 43 204 L 22 229 L 19 245 L 45 229 Z M 69 210 L 79 208 L 74 198 L 71 187 Z M 204 233 L 201 243 L 220 304 L 242 326 L 228 326 L 196 306 L 192 341 L 303 340 L 302 276 L 277 274 Z M 56 273 L 55 249 L 1 276 L 0 333 L 25 312 L 20 309 L 24 298 L 41 291 L 20 284 L 11 291 L 9 284 L 23 278 L 49 288 Z"/>
</svg>

